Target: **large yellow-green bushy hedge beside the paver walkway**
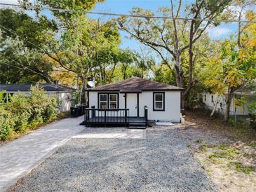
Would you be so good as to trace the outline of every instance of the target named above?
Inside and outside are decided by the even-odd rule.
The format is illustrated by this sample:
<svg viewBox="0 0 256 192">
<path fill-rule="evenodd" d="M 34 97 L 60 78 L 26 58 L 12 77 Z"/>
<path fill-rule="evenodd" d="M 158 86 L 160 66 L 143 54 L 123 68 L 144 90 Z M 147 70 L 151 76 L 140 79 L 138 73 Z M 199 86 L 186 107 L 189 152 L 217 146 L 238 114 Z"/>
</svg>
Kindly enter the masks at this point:
<svg viewBox="0 0 256 192">
<path fill-rule="evenodd" d="M 38 86 L 31 87 L 30 92 L 29 96 L 18 92 L 7 103 L 4 103 L 4 94 L 0 94 L 0 140 L 57 118 L 59 103 L 55 97 L 46 96 Z"/>
</svg>

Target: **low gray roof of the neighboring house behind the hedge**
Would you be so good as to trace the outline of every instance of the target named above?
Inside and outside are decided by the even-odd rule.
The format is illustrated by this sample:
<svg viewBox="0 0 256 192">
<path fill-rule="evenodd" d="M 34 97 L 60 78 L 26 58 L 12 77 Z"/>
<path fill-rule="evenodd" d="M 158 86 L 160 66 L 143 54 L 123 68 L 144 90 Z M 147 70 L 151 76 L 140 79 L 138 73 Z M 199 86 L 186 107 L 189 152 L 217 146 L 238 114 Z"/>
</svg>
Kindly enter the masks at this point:
<svg viewBox="0 0 256 192">
<path fill-rule="evenodd" d="M 29 91 L 30 87 L 34 84 L 0 84 L 0 91 L 6 90 L 6 91 Z M 39 84 L 40 88 L 43 88 L 43 90 L 46 91 L 74 91 L 76 89 L 69 88 L 65 85 L 57 85 L 57 84 Z"/>
</svg>

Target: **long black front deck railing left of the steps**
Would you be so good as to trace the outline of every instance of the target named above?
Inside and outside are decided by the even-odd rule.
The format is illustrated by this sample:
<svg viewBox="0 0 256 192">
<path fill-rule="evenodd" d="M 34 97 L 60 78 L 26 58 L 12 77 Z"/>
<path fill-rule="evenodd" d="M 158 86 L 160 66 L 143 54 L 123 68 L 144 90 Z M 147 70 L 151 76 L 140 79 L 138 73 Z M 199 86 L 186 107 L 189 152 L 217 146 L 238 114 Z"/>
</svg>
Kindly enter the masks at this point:
<svg viewBox="0 0 256 192">
<path fill-rule="evenodd" d="M 84 122 L 86 125 L 128 125 L 128 117 L 129 109 L 95 109 L 92 107 L 85 109 Z"/>
</svg>

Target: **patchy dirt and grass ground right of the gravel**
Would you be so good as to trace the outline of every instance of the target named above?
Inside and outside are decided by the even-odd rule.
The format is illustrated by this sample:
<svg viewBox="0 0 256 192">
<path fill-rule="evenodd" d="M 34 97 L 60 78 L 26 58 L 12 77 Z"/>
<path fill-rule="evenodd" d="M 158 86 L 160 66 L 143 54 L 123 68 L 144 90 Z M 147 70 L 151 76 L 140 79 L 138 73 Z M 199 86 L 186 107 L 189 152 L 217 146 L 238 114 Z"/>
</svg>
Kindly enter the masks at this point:
<svg viewBox="0 0 256 192">
<path fill-rule="evenodd" d="M 190 137 L 188 147 L 220 191 L 256 191 L 256 131 L 209 118 L 203 111 L 188 111 L 185 119 L 185 137 L 191 130 L 201 135 Z"/>
</svg>

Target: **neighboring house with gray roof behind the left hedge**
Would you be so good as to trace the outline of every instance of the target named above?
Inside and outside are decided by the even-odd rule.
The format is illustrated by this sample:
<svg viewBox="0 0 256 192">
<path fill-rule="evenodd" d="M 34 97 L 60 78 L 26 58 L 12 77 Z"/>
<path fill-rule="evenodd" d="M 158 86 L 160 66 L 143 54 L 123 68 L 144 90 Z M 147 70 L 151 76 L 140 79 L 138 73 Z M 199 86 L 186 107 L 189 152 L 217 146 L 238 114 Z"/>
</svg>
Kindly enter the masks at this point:
<svg viewBox="0 0 256 192">
<path fill-rule="evenodd" d="M 0 84 L 0 91 L 6 90 L 7 95 L 13 95 L 18 91 L 29 95 L 31 86 L 32 84 Z M 60 101 L 60 112 L 69 111 L 72 106 L 72 92 L 76 91 L 74 88 L 58 84 L 39 84 L 39 87 L 46 91 L 46 95 L 56 97 Z"/>
</svg>

